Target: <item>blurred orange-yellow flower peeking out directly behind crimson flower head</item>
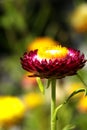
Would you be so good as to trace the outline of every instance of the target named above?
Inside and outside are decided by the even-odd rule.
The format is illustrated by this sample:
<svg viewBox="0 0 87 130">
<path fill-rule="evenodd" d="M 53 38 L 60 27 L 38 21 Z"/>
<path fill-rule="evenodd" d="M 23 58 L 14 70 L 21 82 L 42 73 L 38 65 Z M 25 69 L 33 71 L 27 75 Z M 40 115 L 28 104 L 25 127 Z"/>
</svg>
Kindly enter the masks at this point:
<svg viewBox="0 0 87 130">
<path fill-rule="evenodd" d="M 29 45 L 28 45 L 28 50 L 35 50 L 38 48 L 44 48 L 47 46 L 53 46 L 53 45 L 58 45 L 58 42 L 54 41 L 53 39 L 49 37 L 39 37 L 34 39 Z"/>
</svg>

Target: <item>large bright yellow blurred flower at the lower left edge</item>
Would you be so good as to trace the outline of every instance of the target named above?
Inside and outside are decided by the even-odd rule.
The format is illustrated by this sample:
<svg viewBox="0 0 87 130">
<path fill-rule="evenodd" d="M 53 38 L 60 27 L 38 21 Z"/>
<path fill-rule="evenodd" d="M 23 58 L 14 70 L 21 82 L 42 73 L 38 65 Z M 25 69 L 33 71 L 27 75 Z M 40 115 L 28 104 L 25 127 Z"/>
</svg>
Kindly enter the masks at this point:
<svg viewBox="0 0 87 130">
<path fill-rule="evenodd" d="M 21 119 L 25 112 L 23 102 L 13 96 L 0 96 L 0 125 L 12 125 Z"/>
</svg>

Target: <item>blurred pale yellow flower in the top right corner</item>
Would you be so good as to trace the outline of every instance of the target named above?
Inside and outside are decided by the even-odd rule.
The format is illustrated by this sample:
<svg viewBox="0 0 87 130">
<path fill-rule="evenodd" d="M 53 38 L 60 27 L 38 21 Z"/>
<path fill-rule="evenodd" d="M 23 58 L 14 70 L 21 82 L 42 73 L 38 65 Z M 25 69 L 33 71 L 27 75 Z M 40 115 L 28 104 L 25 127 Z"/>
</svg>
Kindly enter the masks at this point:
<svg viewBox="0 0 87 130">
<path fill-rule="evenodd" d="M 70 18 L 71 26 L 77 32 L 87 32 L 87 3 L 76 7 Z"/>
</svg>

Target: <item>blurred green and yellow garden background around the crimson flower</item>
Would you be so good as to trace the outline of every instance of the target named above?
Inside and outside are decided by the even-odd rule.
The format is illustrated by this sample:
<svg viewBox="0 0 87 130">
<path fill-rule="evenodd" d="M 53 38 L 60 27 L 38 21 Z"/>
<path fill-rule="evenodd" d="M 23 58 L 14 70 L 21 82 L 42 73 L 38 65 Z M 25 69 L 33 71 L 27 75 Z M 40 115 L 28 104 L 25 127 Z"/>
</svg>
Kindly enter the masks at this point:
<svg viewBox="0 0 87 130">
<path fill-rule="evenodd" d="M 0 0 L 0 128 L 50 130 L 50 88 L 40 93 L 20 64 L 25 51 L 61 43 L 87 58 L 86 0 Z M 56 44 L 57 44 L 56 43 Z M 79 71 L 87 84 L 87 65 Z M 46 80 L 42 81 L 46 85 Z M 78 88 L 77 76 L 57 82 L 57 104 Z M 78 94 L 58 112 L 58 130 L 87 130 L 87 98 Z"/>
</svg>

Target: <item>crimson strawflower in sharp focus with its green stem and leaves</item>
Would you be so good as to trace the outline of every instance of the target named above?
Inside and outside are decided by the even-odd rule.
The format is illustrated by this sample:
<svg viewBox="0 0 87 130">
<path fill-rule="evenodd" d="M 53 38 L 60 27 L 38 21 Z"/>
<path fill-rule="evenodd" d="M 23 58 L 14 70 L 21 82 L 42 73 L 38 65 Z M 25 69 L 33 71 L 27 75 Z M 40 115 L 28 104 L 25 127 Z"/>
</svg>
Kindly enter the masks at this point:
<svg viewBox="0 0 87 130">
<path fill-rule="evenodd" d="M 51 83 L 51 130 L 56 130 L 58 110 L 72 96 L 85 91 L 85 89 L 81 89 L 73 92 L 63 104 L 56 107 L 56 79 L 77 74 L 77 71 L 85 65 L 85 62 L 84 54 L 81 54 L 80 51 L 61 45 L 39 47 L 39 49 L 25 52 L 21 58 L 23 69 L 31 73 L 28 76 L 37 77 L 41 92 L 44 92 L 44 87 L 39 78 L 48 79 L 47 87 Z"/>
</svg>

